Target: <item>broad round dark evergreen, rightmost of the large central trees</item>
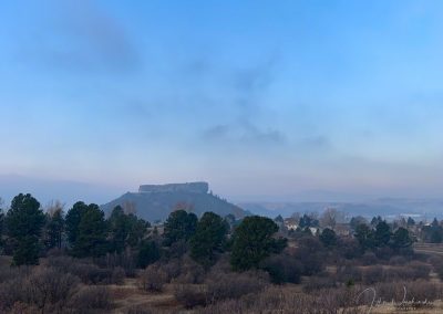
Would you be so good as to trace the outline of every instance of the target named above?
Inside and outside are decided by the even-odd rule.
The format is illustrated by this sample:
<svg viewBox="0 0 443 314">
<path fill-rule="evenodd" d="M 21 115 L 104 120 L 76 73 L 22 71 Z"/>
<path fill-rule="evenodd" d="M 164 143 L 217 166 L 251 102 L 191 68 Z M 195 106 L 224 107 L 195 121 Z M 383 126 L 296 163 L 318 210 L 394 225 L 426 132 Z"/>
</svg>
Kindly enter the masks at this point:
<svg viewBox="0 0 443 314">
<path fill-rule="evenodd" d="M 246 217 L 234 232 L 230 264 L 234 270 L 246 271 L 258 268 L 271 253 L 281 252 L 287 239 L 274 239 L 278 226 L 269 218 Z"/>
</svg>

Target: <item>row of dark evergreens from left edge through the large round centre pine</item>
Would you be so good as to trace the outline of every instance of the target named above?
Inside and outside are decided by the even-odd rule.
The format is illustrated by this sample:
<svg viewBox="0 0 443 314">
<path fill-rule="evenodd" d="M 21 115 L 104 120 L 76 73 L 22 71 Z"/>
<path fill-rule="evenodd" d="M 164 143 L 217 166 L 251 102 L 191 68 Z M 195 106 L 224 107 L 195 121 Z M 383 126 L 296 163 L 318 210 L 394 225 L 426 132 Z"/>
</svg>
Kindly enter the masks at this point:
<svg viewBox="0 0 443 314">
<path fill-rule="evenodd" d="M 120 206 L 107 219 L 97 205 L 82 201 L 66 213 L 58 203 L 44 212 L 29 193 L 14 197 L 0 216 L 2 251 L 12 255 L 13 265 L 38 264 L 40 257 L 59 249 L 80 259 L 130 254 L 138 268 L 188 253 L 207 269 L 230 251 L 233 268 L 245 271 L 258 268 L 265 258 L 286 247 L 286 239 L 274 237 L 278 227 L 271 219 L 247 217 L 234 230 L 235 223 L 231 216 L 205 212 L 198 219 L 192 212 L 176 210 L 161 234 L 157 227 L 151 228 L 150 222 Z"/>
</svg>

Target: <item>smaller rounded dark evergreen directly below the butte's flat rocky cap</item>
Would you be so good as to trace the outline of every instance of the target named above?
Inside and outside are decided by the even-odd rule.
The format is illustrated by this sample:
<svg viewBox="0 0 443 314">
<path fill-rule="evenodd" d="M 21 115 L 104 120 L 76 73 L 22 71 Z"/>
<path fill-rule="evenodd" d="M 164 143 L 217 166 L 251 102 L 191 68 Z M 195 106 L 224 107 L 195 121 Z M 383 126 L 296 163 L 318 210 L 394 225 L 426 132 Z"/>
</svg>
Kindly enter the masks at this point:
<svg viewBox="0 0 443 314">
<path fill-rule="evenodd" d="M 177 241 L 188 241 L 197 227 L 197 216 L 185 210 L 171 212 L 164 226 L 164 244 L 171 247 Z"/>
</svg>

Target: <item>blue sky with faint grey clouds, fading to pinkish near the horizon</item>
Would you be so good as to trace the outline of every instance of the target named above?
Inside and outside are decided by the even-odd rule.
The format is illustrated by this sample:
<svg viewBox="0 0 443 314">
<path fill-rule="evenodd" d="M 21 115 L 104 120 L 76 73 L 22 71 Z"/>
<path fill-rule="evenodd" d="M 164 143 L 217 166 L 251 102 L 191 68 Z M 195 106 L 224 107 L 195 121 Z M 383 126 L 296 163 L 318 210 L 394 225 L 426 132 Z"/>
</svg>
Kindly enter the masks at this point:
<svg viewBox="0 0 443 314">
<path fill-rule="evenodd" d="M 0 175 L 441 197 L 442 29 L 426 0 L 3 1 Z"/>
</svg>

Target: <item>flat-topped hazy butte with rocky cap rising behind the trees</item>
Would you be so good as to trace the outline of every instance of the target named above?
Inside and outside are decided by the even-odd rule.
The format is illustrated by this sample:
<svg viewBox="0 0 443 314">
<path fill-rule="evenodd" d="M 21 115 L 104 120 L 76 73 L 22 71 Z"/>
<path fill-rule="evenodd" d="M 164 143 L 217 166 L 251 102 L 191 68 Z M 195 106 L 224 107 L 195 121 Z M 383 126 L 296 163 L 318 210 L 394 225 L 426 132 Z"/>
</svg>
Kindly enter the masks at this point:
<svg viewBox="0 0 443 314">
<path fill-rule="evenodd" d="M 205 211 L 222 217 L 231 213 L 241 218 L 246 214 L 241 208 L 209 192 L 207 182 L 140 186 L 138 192 L 124 193 L 103 205 L 102 209 L 109 214 L 119 205 L 151 222 L 166 220 L 175 209 L 186 209 L 198 217 Z"/>
</svg>

